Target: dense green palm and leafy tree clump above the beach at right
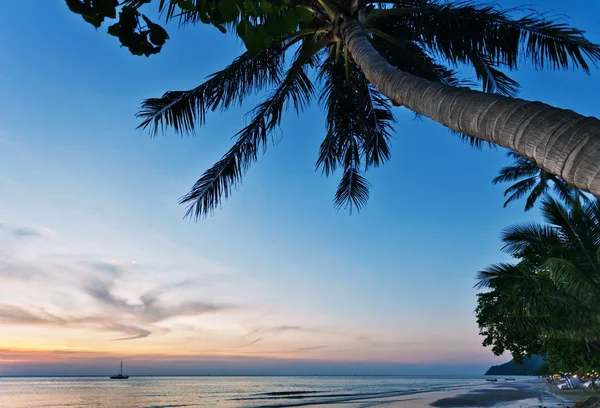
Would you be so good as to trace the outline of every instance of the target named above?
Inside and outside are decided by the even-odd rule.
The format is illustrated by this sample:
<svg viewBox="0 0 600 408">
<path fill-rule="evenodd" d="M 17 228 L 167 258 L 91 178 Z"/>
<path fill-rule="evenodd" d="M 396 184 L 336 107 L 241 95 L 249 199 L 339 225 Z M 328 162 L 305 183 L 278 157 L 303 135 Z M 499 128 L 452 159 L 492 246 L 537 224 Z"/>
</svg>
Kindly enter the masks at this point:
<svg viewBox="0 0 600 408">
<path fill-rule="evenodd" d="M 475 287 L 488 290 L 480 294 L 478 323 L 497 351 L 529 346 L 532 339 L 599 345 L 600 204 L 565 205 L 546 197 L 541 210 L 547 224 L 503 233 L 503 250 L 518 263 L 478 274 Z"/>
</svg>

